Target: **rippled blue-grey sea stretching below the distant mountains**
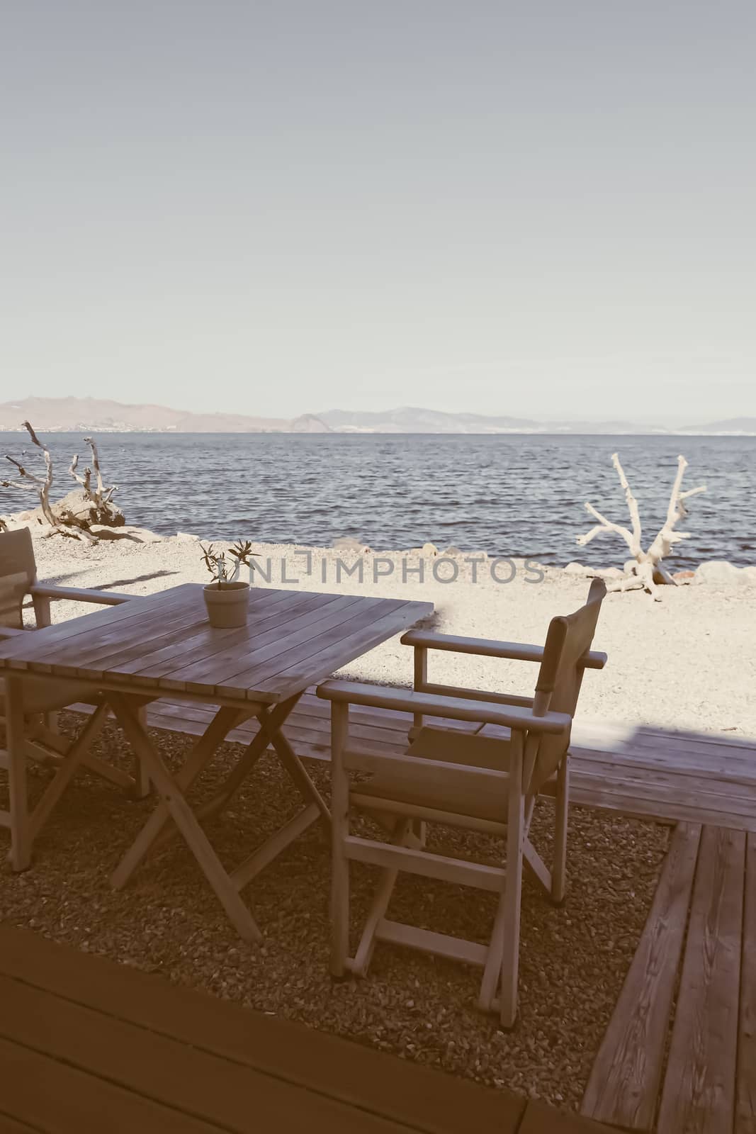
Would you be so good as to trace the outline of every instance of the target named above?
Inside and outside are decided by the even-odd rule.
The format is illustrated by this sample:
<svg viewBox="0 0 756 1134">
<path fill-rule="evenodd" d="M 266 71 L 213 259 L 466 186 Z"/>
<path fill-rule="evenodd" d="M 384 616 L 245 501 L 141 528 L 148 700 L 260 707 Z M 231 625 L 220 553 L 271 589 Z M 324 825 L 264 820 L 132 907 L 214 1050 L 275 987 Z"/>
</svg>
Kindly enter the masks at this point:
<svg viewBox="0 0 756 1134">
<path fill-rule="evenodd" d="M 62 496 L 74 486 L 71 455 L 78 448 L 85 465 L 87 449 L 75 433 L 45 439 L 58 471 L 53 497 Z M 683 486 L 705 482 L 707 492 L 690 501 L 680 526 L 691 539 L 674 562 L 756 562 L 756 438 L 103 433 L 99 446 L 127 522 L 164 534 L 326 547 L 354 535 L 376 550 L 430 540 L 596 566 L 627 558 L 619 538 L 575 542 L 593 524 L 585 500 L 627 523 L 611 454 L 619 450 L 651 539 L 682 451 Z M 0 433 L 0 452 L 23 449 L 35 467 L 25 434 Z M 0 511 L 33 505 L 31 494 L 0 489 Z"/>
</svg>

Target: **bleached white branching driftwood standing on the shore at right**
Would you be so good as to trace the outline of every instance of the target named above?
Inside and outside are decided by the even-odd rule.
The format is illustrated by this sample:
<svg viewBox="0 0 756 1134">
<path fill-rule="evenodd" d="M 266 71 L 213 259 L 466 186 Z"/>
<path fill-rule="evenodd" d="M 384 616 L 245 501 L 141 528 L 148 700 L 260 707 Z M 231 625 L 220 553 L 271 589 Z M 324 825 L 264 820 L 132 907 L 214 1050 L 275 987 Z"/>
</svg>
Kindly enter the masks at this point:
<svg viewBox="0 0 756 1134">
<path fill-rule="evenodd" d="M 688 467 L 688 462 L 685 457 L 678 457 L 678 471 L 674 477 L 674 483 L 672 484 L 672 491 L 670 493 L 670 502 L 666 509 L 666 519 L 663 526 L 656 534 L 653 542 L 649 544 L 646 551 L 643 550 L 640 542 L 642 538 L 642 526 L 640 526 L 640 513 L 638 511 L 638 501 L 632 494 L 632 490 L 628 484 L 628 479 L 625 475 L 625 469 L 620 464 L 620 458 L 617 452 L 612 454 L 612 464 L 617 469 L 617 475 L 620 479 L 620 484 L 625 490 L 625 500 L 628 506 L 628 511 L 630 513 L 630 524 L 631 528 L 623 527 L 621 524 L 613 524 L 610 519 L 594 508 L 592 503 L 586 502 L 586 511 L 597 519 L 598 523 L 595 527 L 592 527 L 589 532 L 584 535 L 578 536 L 578 544 L 584 548 L 586 543 L 596 535 L 601 535 L 604 532 L 611 532 L 614 535 L 621 536 L 627 543 L 630 555 L 632 556 L 630 573 L 617 583 L 612 583 L 608 586 L 609 591 L 631 591 L 631 590 L 643 590 L 647 591 L 654 599 L 659 599 L 659 592 L 656 585 L 659 583 L 671 583 L 676 585 L 674 578 L 670 575 L 666 568 L 663 566 L 662 560 L 669 556 L 671 549 L 676 543 L 681 540 L 689 540 L 689 532 L 677 532 L 674 530 L 676 524 L 679 519 L 683 519 L 688 511 L 685 506 L 685 500 L 691 496 L 696 496 L 698 492 L 705 492 L 706 485 L 700 484 L 696 489 L 688 489 L 686 492 L 681 491 L 682 477 L 685 471 Z M 627 567 L 626 567 L 627 570 Z"/>
</svg>

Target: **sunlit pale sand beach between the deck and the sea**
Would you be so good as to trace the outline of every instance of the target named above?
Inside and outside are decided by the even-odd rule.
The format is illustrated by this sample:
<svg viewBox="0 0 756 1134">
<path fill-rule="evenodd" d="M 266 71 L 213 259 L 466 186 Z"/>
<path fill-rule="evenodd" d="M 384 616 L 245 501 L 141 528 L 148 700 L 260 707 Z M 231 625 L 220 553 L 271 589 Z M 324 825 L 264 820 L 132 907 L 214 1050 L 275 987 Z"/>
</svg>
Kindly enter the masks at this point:
<svg viewBox="0 0 756 1134">
<path fill-rule="evenodd" d="M 258 544 L 263 562 L 272 559 L 271 586 L 289 586 L 339 593 L 407 598 L 435 604 L 438 629 L 468 636 L 499 637 L 543 643 L 549 619 L 580 606 L 588 579 L 549 569 L 543 582 L 527 582 L 520 567 L 511 583 L 495 583 L 490 565 L 478 569 L 460 560 L 460 578 L 442 584 L 425 561 L 425 579 L 416 574 L 402 582 L 400 552 L 375 552 L 364 560 L 364 582 L 335 578 L 339 552 L 312 549 L 312 573 L 306 573 L 304 549 Z M 185 582 L 207 582 L 198 545 L 176 539 L 153 544 L 126 542 L 87 547 L 60 539 L 35 540 L 40 578 L 69 586 L 104 587 L 147 594 Z M 281 583 L 281 557 L 288 578 Z M 373 582 L 373 560 L 379 570 L 393 562 L 393 573 Z M 357 556 L 341 553 L 354 564 Z M 405 555 L 408 568 L 418 555 Z M 325 582 L 323 564 L 325 562 Z M 506 578 L 509 569 L 499 568 Z M 530 578 L 534 576 L 530 575 Z M 54 606 L 56 619 L 85 613 L 91 607 Z M 661 602 L 639 592 L 610 594 L 604 602 L 595 648 L 605 650 L 609 665 L 586 674 L 580 717 L 700 731 L 728 729 L 733 735 L 756 737 L 756 586 L 751 584 L 668 587 Z M 385 643 L 354 662 L 350 676 L 379 682 L 411 683 L 411 651 L 398 640 Z M 503 662 L 452 654 L 432 658 L 432 678 L 451 684 L 530 693 L 535 669 L 523 662 Z"/>
</svg>

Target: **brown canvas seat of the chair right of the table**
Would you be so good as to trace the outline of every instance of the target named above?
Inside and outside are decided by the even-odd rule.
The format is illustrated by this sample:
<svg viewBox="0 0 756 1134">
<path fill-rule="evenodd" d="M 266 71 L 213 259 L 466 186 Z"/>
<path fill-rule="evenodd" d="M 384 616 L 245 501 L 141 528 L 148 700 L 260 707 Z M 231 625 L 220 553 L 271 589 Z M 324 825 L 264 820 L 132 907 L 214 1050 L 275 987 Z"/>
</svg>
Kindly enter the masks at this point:
<svg viewBox="0 0 756 1134">
<path fill-rule="evenodd" d="M 417 768 L 408 763 L 400 771 L 374 772 L 355 787 L 355 793 L 391 799 L 408 809 L 431 807 L 502 826 L 507 822 L 508 781 L 499 776 L 486 779 L 485 771 L 481 771 L 509 770 L 507 741 L 426 726 L 409 745 L 407 754 L 418 758 Z M 449 768 L 436 769 L 436 775 L 428 776 L 425 760 L 441 761 Z"/>
</svg>

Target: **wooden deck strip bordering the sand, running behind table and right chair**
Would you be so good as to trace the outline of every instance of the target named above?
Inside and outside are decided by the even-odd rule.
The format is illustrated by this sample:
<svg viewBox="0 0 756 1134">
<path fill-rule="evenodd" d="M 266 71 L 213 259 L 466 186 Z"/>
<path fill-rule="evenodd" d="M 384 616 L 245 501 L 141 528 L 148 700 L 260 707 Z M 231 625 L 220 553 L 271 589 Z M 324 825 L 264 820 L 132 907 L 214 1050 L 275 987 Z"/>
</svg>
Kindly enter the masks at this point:
<svg viewBox="0 0 756 1134">
<path fill-rule="evenodd" d="M 153 728 L 199 735 L 213 711 L 212 705 L 196 702 L 158 701 L 147 708 L 147 721 Z M 284 728 L 299 755 L 330 759 L 329 711 L 314 688 L 303 695 Z M 352 709 L 351 720 L 356 741 L 377 751 L 405 751 L 411 725 L 408 713 Z M 248 744 L 257 728 L 255 719 L 248 720 L 229 739 Z M 570 801 L 575 804 L 756 833 L 753 741 L 576 722 L 570 751 Z"/>
</svg>

